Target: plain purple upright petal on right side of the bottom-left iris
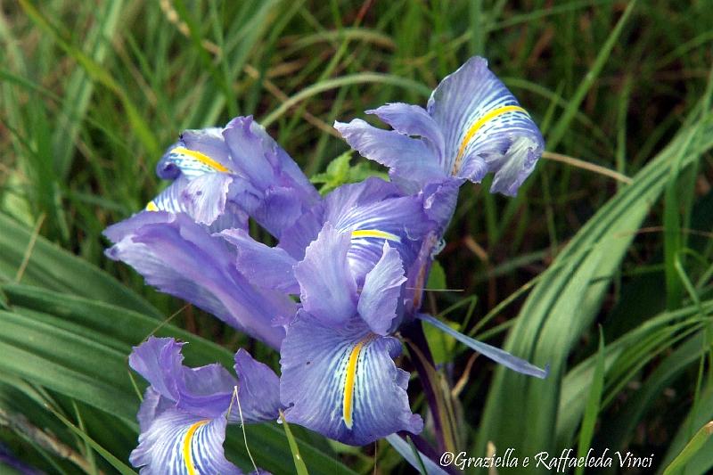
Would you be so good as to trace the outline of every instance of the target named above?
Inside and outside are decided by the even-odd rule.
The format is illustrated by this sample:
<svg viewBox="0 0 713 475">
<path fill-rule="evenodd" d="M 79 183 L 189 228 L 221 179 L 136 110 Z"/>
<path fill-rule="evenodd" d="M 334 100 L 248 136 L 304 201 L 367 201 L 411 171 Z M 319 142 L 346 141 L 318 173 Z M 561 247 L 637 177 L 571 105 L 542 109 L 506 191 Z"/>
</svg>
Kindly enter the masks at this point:
<svg viewBox="0 0 713 475">
<path fill-rule="evenodd" d="M 235 422 L 275 421 L 279 417 L 280 379 L 264 363 L 255 361 L 240 348 L 235 353 L 235 373 L 238 375 L 238 398 L 234 401 L 230 420 Z M 242 413 L 242 418 L 241 418 Z"/>
</svg>

